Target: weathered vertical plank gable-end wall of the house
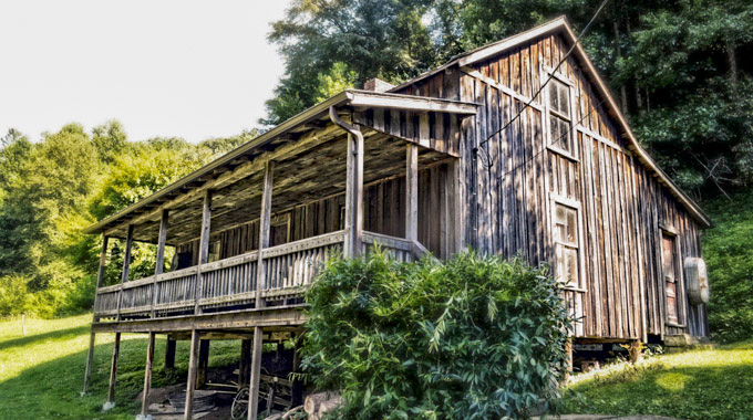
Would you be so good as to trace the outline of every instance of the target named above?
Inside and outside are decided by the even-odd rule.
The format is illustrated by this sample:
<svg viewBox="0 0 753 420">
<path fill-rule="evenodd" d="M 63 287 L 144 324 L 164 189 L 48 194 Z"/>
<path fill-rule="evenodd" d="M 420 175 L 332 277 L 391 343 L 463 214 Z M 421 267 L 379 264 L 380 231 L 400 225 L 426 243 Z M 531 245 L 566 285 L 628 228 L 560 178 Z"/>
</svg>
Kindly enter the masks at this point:
<svg viewBox="0 0 753 420">
<path fill-rule="evenodd" d="M 482 252 L 519 253 L 533 264 L 553 263 L 550 197 L 576 200 L 581 206 L 585 291 L 565 292 L 571 312 L 582 316 L 576 336 L 708 336 L 705 307 L 689 304 L 684 282 L 680 316 L 687 327 L 667 325 L 661 275 L 662 227 L 677 231 L 681 261 L 701 256 L 700 228 L 627 149 L 573 56 L 560 73 L 575 86 L 571 114 L 582 127 L 575 141 L 577 159 L 546 148 L 540 96 L 493 135 L 539 88 L 541 67 L 556 66 L 566 51 L 559 35 L 545 35 L 472 69 L 455 65 L 395 92 L 483 104 L 461 126 L 464 242 Z M 482 156 L 474 154 L 477 147 Z M 487 154 L 491 168 L 484 165 Z"/>
</svg>

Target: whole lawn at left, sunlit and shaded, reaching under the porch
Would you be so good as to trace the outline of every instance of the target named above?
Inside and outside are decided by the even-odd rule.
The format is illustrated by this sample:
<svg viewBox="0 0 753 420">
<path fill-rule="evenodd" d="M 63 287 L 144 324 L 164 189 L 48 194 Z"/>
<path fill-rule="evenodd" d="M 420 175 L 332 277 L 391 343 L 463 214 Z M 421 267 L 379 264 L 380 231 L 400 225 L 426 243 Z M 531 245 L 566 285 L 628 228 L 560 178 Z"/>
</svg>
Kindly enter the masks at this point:
<svg viewBox="0 0 753 420">
<path fill-rule="evenodd" d="M 96 337 L 90 393 L 81 397 L 92 316 L 0 322 L 0 419 L 133 419 L 141 405 L 134 399 L 144 385 L 145 335 L 124 334 L 116 388 L 116 407 L 106 413 L 113 334 Z M 154 387 L 185 384 L 188 343 L 178 342 L 176 371 L 162 370 L 165 340 L 155 347 Z M 237 340 L 213 342 L 209 366 L 237 363 Z"/>
</svg>

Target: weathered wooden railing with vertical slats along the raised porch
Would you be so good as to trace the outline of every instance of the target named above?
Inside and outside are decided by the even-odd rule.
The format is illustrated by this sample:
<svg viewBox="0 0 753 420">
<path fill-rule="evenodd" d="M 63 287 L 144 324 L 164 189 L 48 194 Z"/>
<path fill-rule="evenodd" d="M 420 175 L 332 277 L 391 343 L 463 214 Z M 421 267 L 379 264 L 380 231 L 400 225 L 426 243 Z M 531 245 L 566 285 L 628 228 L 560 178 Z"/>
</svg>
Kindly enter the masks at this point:
<svg viewBox="0 0 753 420">
<path fill-rule="evenodd" d="M 342 251 L 344 231 L 308 238 L 261 251 L 266 266 L 266 281 L 259 282 L 259 252 L 207 264 L 153 275 L 124 284 L 97 290 L 97 317 L 149 317 L 193 314 L 196 305 L 203 311 L 221 312 L 243 305 L 252 305 L 257 291 L 267 303 L 299 300 L 306 287 L 331 255 Z M 365 252 L 380 246 L 400 261 L 412 261 L 415 244 L 400 238 L 363 232 Z M 202 282 L 202 295 L 196 286 Z M 120 301 L 120 308 L 118 308 Z"/>
</svg>

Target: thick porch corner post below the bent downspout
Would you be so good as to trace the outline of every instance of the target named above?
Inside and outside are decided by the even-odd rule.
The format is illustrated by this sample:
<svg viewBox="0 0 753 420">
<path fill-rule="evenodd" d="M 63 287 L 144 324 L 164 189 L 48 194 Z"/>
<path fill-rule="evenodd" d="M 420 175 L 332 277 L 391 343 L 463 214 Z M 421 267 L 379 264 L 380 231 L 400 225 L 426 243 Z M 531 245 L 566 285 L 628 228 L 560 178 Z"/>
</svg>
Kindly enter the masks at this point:
<svg viewBox="0 0 753 420">
<path fill-rule="evenodd" d="M 353 129 L 358 129 L 353 127 Z M 345 258 L 363 251 L 363 136 L 348 133 L 348 179 L 345 180 Z"/>
</svg>

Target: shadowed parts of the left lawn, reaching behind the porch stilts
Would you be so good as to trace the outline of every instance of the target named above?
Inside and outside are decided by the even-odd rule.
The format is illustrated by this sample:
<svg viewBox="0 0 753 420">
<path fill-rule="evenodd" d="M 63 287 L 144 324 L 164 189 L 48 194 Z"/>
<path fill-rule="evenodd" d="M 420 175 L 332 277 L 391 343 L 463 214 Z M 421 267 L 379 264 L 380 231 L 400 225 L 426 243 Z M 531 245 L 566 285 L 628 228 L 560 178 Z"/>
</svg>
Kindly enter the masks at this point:
<svg viewBox="0 0 753 420">
<path fill-rule="evenodd" d="M 62 338 L 87 334 L 89 327 L 69 328 L 39 336 Z M 37 336 L 37 339 L 41 339 Z M 97 335 L 101 337 L 101 335 Z M 20 339 L 19 339 L 20 340 Z M 13 342 L 19 342 L 13 340 Z M 31 343 L 34 337 L 24 337 Z M 31 342 L 30 342 L 31 340 Z M 14 343 L 21 346 L 23 343 Z M 61 343 L 62 346 L 66 345 Z M 185 384 L 188 369 L 187 342 L 178 342 L 175 369 L 163 370 L 165 339 L 157 338 L 153 371 L 153 387 Z M 235 364 L 239 357 L 239 343 L 213 343 L 210 367 Z M 112 343 L 100 344 L 94 350 L 94 365 L 90 393 L 81 397 L 86 350 L 62 356 L 29 367 L 18 376 L 0 382 L 0 420 L 6 419 L 133 419 L 141 408 L 136 396 L 144 387 L 146 338 L 124 336 L 118 357 L 115 409 L 103 412 L 107 398 Z M 214 356 L 214 360 L 212 359 Z"/>
</svg>

